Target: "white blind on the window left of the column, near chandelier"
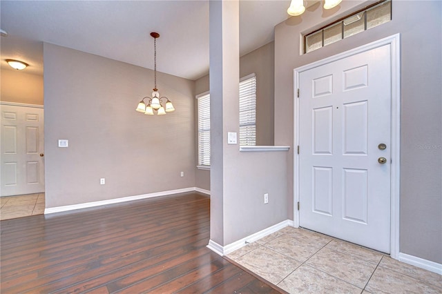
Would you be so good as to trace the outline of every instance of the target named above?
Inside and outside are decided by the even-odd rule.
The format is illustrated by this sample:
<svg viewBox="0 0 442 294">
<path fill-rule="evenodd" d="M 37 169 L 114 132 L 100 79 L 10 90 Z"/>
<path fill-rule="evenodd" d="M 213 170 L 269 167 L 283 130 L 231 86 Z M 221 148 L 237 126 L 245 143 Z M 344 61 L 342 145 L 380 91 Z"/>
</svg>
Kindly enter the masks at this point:
<svg viewBox="0 0 442 294">
<path fill-rule="evenodd" d="M 210 166 L 210 94 L 198 95 L 198 166 Z"/>
</svg>

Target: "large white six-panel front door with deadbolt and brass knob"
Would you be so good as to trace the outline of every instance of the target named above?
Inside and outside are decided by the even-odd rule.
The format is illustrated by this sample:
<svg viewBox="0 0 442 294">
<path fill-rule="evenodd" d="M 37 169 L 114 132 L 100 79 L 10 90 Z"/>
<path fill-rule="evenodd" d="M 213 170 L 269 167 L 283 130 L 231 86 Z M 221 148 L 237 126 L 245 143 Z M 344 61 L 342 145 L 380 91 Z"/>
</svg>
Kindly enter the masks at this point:
<svg viewBox="0 0 442 294">
<path fill-rule="evenodd" d="M 300 72 L 299 88 L 300 226 L 390 253 L 390 46 Z"/>
</svg>

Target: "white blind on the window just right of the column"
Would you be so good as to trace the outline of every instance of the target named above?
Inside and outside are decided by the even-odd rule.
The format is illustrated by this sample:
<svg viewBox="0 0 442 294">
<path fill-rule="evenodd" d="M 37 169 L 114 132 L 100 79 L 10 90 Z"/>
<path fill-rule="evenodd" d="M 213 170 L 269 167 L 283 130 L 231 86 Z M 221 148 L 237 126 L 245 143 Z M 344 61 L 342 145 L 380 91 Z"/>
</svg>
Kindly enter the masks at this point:
<svg viewBox="0 0 442 294">
<path fill-rule="evenodd" d="M 240 80 L 240 146 L 256 145 L 256 76 Z"/>
</svg>

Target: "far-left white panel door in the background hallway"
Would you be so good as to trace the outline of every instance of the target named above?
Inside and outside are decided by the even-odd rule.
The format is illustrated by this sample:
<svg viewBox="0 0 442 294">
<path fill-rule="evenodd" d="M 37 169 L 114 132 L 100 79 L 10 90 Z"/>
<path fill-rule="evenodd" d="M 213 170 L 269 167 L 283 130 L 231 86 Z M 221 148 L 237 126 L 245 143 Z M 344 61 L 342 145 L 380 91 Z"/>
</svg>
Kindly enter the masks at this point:
<svg viewBox="0 0 442 294">
<path fill-rule="evenodd" d="M 43 108 L 0 108 L 1 196 L 43 193 Z"/>
</svg>

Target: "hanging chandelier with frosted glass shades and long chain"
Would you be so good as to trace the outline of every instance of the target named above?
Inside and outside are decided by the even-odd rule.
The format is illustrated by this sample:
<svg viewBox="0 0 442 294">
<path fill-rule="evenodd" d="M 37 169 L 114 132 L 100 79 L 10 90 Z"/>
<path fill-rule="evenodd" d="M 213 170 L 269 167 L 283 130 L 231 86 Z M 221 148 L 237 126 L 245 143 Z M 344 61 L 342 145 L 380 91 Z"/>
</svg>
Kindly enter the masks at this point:
<svg viewBox="0 0 442 294">
<path fill-rule="evenodd" d="M 154 79 L 155 79 L 155 88 L 153 88 L 152 97 L 144 97 L 142 101 L 137 106 L 137 112 L 142 112 L 145 115 L 154 115 L 154 112 L 157 115 L 165 115 L 166 112 L 172 112 L 175 110 L 173 108 L 172 102 L 167 97 L 160 97 L 160 93 L 157 89 L 157 38 L 160 37 L 160 34 L 157 32 L 151 32 L 151 36 L 153 37 L 153 48 L 154 48 Z M 148 104 L 144 104 L 144 99 L 147 99 Z M 163 105 L 164 104 L 164 105 Z"/>
</svg>

